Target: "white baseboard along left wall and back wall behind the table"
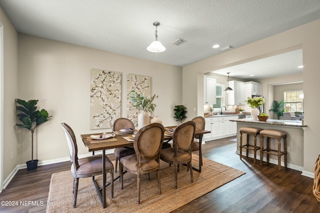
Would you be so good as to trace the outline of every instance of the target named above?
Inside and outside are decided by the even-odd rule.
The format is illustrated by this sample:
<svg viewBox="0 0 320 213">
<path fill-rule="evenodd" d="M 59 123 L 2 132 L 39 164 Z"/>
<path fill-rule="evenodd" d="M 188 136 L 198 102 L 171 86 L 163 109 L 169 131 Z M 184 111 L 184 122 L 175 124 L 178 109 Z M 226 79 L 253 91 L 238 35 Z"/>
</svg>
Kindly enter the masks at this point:
<svg viewBox="0 0 320 213">
<path fill-rule="evenodd" d="M 113 153 L 113 150 L 114 149 L 107 149 L 107 150 L 105 150 L 105 154 L 111 154 L 111 153 Z M 94 154 L 102 154 L 102 151 L 95 151 Z M 87 156 L 90 156 L 90 155 L 92 155 L 91 152 L 87 153 L 87 154 L 78 155 L 78 158 L 87 157 Z M 48 164 L 52 164 L 52 163 L 65 162 L 65 161 L 70 161 L 70 157 L 62 157 L 62 158 L 56 158 L 56 159 L 50 159 L 50 160 L 39 160 L 38 161 L 38 165 L 48 165 Z M 26 168 L 26 164 L 25 163 L 15 166 L 15 168 L 11 171 L 11 173 L 5 178 L 5 180 L 3 182 L 3 189 L 9 184 L 9 182 L 14 177 L 16 172 L 19 169 L 23 169 L 23 168 Z"/>
</svg>

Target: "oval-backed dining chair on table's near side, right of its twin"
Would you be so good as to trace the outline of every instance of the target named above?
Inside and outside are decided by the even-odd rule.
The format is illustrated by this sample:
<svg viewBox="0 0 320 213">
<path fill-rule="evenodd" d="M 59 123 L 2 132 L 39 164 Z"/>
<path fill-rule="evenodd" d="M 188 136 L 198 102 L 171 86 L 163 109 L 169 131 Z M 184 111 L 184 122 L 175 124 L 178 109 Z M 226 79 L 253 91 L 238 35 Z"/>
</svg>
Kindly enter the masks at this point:
<svg viewBox="0 0 320 213">
<path fill-rule="evenodd" d="M 192 165 L 191 165 L 191 143 L 194 139 L 195 122 L 186 121 L 178 126 L 173 131 L 172 141 L 173 147 L 164 148 L 161 150 L 160 159 L 174 164 L 174 188 L 177 188 L 177 172 L 178 165 L 187 163 L 190 170 L 190 179 L 193 182 Z"/>
</svg>

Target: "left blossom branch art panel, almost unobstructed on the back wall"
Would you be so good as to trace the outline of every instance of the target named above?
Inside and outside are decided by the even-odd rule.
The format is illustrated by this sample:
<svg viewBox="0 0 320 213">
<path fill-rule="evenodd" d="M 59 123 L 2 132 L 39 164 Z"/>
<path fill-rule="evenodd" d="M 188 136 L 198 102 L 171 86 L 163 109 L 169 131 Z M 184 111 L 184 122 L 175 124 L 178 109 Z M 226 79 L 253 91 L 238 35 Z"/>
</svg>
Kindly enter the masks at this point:
<svg viewBox="0 0 320 213">
<path fill-rule="evenodd" d="M 91 69 L 90 128 L 110 128 L 121 115 L 121 73 Z"/>
</svg>

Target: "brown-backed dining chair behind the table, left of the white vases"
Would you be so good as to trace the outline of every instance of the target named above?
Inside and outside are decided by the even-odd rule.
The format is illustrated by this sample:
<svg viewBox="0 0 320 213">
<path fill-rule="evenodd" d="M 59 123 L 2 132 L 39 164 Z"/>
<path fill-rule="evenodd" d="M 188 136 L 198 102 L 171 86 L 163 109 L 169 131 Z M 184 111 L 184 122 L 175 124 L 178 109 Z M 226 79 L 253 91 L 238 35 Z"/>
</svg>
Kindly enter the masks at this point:
<svg viewBox="0 0 320 213">
<path fill-rule="evenodd" d="M 112 131 L 118 131 L 120 129 L 124 128 L 135 128 L 134 123 L 125 117 L 120 117 L 114 120 L 112 125 Z M 127 146 L 127 147 L 119 147 L 114 149 L 114 156 L 115 156 L 115 172 L 117 169 L 118 160 L 120 160 L 121 157 L 134 154 L 134 148 L 133 145 Z"/>
</svg>

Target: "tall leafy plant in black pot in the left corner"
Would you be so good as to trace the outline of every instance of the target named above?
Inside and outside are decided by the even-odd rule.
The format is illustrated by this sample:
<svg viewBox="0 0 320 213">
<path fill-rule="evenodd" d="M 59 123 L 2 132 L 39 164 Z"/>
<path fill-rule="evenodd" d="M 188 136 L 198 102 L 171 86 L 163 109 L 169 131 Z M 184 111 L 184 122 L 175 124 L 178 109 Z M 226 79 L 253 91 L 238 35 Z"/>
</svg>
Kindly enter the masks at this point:
<svg viewBox="0 0 320 213">
<path fill-rule="evenodd" d="M 37 126 L 48 120 L 48 112 L 45 109 L 37 110 L 36 103 L 38 100 L 21 100 L 15 99 L 18 105 L 15 106 L 16 110 L 20 113 L 16 113 L 18 120 L 21 123 L 15 125 L 20 128 L 26 128 L 31 131 L 31 160 L 26 161 L 27 170 L 33 170 L 37 168 L 37 159 L 33 159 L 33 133 Z"/>
</svg>

